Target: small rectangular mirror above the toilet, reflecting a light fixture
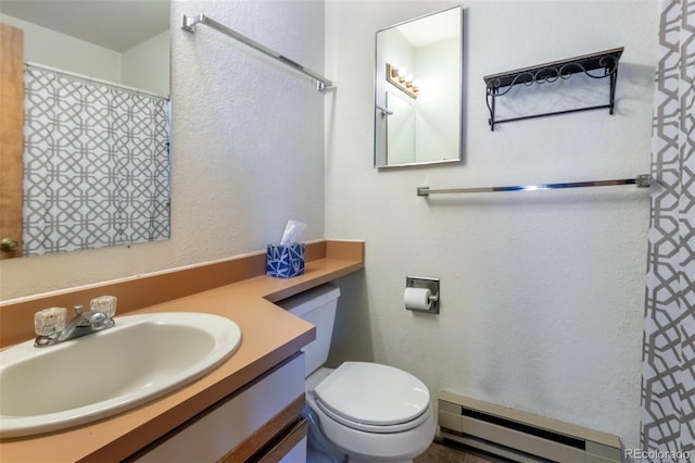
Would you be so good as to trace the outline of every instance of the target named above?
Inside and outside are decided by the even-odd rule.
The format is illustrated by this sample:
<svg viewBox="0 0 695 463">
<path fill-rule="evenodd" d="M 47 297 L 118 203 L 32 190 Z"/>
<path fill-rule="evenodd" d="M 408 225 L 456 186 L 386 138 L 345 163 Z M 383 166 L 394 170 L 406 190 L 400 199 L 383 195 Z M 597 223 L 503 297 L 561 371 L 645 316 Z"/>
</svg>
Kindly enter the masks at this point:
<svg viewBox="0 0 695 463">
<path fill-rule="evenodd" d="M 380 29 L 376 38 L 376 167 L 462 160 L 463 9 Z"/>
</svg>

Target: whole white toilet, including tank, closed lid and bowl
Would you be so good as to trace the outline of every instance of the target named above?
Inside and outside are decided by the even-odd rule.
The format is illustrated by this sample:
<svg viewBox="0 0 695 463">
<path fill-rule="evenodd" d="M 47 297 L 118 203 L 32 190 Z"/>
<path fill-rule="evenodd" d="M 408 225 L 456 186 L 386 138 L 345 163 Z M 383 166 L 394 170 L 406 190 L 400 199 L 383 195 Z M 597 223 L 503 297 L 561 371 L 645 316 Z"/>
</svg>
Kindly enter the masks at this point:
<svg viewBox="0 0 695 463">
<path fill-rule="evenodd" d="M 303 349 L 308 462 L 412 462 L 435 423 L 427 386 L 402 370 L 369 362 L 326 368 L 340 289 L 326 284 L 278 302 L 316 326 Z"/>
</svg>

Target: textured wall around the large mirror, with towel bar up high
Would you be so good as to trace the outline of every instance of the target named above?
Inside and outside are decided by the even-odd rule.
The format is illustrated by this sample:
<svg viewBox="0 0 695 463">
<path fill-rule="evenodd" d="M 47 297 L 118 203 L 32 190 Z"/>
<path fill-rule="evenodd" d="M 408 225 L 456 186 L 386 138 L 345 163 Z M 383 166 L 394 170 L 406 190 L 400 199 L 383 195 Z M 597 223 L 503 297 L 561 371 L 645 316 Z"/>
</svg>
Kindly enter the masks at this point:
<svg viewBox="0 0 695 463">
<path fill-rule="evenodd" d="M 172 5 L 172 239 L 0 261 L 0 299 L 265 250 L 289 218 L 324 237 L 324 100 L 314 84 L 205 27 L 205 13 L 309 68 L 324 67 L 324 4 L 188 1 Z"/>
</svg>

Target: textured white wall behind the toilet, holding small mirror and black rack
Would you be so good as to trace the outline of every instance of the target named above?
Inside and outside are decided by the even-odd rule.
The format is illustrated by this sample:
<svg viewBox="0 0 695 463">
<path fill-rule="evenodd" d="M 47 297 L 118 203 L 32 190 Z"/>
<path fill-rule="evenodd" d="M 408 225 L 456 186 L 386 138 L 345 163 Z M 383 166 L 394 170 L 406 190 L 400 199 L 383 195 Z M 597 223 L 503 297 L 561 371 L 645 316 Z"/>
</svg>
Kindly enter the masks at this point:
<svg viewBox="0 0 695 463">
<path fill-rule="evenodd" d="M 648 173 L 657 2 L 463 3 L 464 162 L 375 170 L 374 33 L 452 4 L 327 2 L 326 73 L 338 91 L 326 109 L 326 234 L 367 242 L 364 274 L 341 280 L 331 363 L 400 366 L 434 395 L 448 388 L 637 447 L 648 191 L 427 200 L 416 187 Z M 620 46 L 616 115 L 490 130 L 483 75 Z M 441 278 L 439 316 L 404 310 L 406 275 Z"/>
</svg>

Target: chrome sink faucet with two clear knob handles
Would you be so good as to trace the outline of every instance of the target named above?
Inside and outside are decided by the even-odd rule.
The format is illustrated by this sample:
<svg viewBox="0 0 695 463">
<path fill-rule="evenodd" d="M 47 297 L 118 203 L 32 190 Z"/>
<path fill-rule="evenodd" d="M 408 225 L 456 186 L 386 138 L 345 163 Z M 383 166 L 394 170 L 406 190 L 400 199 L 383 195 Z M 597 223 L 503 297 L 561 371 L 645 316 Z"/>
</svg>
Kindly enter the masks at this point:
<svg viewBox="0 0 695 463">
<path fill-rule="evenodd" d="M 75 305 L 74 310 L 75 316 L 67 323 L 65 308 L 50 308 L 37 312 L 34 316 L 34 327 L 38 336 L 34 346 L 53 346 L 111 328 L 115 325 L 113 316 L 116 313 L 116 298 L 102 296 L 91 300 L 90 310 L 86 311 L 81 304 Z"/>
</svg>

